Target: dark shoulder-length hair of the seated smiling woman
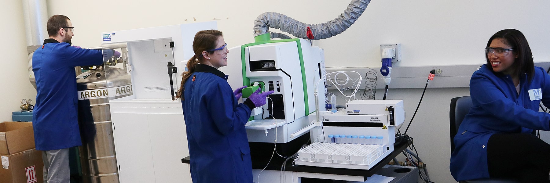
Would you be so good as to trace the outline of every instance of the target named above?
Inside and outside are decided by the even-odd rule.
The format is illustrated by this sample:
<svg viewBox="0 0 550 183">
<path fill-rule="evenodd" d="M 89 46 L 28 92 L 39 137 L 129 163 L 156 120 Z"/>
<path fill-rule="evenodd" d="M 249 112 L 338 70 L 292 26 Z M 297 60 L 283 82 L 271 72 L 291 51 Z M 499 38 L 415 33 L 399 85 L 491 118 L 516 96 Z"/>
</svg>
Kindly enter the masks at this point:
<svg viewBox="0 0 550 183">
<path fill-rule="evenodd" d="M 518 58 L 514 60 L 512 65 L 515 68 L 515 74 L 521 75 L 522 73 L 527 74 L 529 81 L 533 79 L 535 75 L 535 64 L 533 63 L 533 54 L 531 53 L 531 48 L 525 36 L 515 29 L 504 29 L 495 33 L 489 42 L 487 42 L 487 47 L 491 45 L 491 42 L 496 38 L 502 38 L 503 43 L 514 48 L 513 52 L 518 55 Z M 485 54 L 485 59 L 487 59 L 487 64 L 491 65 L 491 61 Z M 488 67 L 493 70 L 492 67 Z M 493 71 L 494 72 L 494 71 Z"/>
</svg>

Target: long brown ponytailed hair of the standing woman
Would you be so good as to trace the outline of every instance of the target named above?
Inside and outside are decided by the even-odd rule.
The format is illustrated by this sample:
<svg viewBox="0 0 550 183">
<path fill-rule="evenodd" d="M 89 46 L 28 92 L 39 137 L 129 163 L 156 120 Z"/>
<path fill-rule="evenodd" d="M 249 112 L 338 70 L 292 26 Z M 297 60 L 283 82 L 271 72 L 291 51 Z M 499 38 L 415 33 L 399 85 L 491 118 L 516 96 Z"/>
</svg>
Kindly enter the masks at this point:
<svg viewBox="0 0 550 183">
<path fill-rule="evenodd" d="M 215 49 L 218 38 L 221 36 L 223 36 L 223 34 L 218 30 L 203 30 L 197 32 L 193 40 L 193 52 L 195 55 L 187 62 L 187 68 L 189 71 L 182 74 L 182 84 L 178 89 L 178 95 L 175 97 L 182 99 L 182 101 L 184 100 L 183 92 L 185 91 L 185 81 L 195 72 L 195 66 L 197 63 L 201 63 L 201 61 L 205 59 L 202 57 L 202 52 Z M 212 54 L 214 51 L 210 51 L 208 53 Z"/>
</svg>

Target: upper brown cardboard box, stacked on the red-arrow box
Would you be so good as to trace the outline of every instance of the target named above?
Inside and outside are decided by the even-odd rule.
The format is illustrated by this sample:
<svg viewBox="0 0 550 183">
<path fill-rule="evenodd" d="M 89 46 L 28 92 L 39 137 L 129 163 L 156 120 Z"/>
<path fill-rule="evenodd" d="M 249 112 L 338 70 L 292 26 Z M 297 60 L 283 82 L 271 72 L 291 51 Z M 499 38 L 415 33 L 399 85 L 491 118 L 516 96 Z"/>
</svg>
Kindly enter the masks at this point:
<svg viewBox="0 0 550 183">
<path fill-rule="evenodd" d="M 0 123 L 0 154 L 12 155 L 35 148 L 32 123 Z"/>
</svg>

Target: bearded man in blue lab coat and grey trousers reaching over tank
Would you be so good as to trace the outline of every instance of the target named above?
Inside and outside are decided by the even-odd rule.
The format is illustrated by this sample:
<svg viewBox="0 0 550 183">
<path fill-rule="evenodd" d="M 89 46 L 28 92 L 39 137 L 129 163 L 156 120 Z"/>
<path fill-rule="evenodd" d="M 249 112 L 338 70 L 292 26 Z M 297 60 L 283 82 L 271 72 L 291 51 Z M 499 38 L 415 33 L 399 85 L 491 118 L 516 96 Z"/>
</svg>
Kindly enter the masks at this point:
<svg viewBox="0 0 550 183">
<path fill-rule="evenodd" d="M 112 50 L 83 49 L 70 44 L 74 27 L 64 15 L 48 19 L 50 38 L 32 56 L 36 107 L 32 117 L 36 149 L 43 151 L 44 180 L 69 182 L 69 148 L 81 146 L 75 66 L 101 65 Z"/>
</svg>

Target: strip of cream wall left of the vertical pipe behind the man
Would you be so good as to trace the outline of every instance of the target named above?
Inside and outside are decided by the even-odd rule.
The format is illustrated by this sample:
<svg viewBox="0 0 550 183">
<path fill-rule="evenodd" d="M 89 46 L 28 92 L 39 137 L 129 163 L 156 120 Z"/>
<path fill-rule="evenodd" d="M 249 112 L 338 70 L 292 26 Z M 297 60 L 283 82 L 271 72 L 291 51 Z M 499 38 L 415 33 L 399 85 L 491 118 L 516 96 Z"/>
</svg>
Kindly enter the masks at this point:
<svg viewBox="0 0 550 183">
<path fill-rule="evenodd" d="M 21 1 L 0 1 L 0 17 L 0 34 L 4 40 L 0 44 L 0 121 L 11 121 L 12 112 L 21 110 L 19 101 L 23 98 L 34 101 L 36 90 L 29 82 L 27 71 L 27 45 Z"/>
</svg>

